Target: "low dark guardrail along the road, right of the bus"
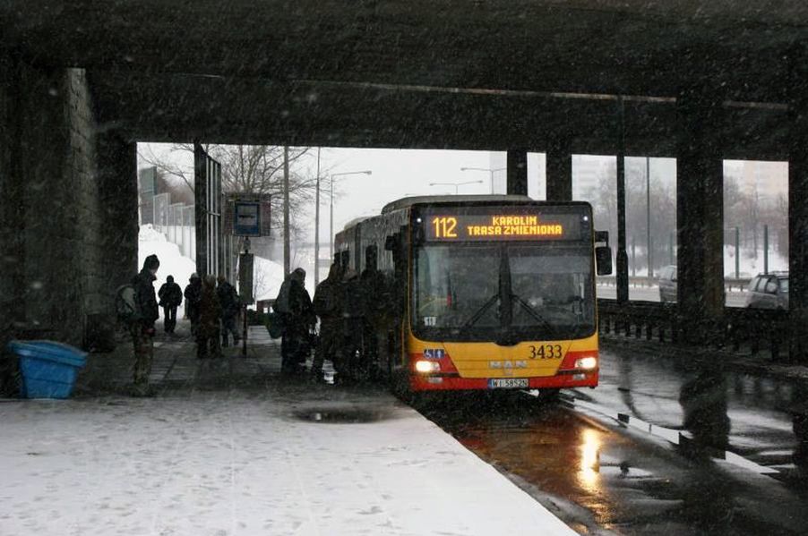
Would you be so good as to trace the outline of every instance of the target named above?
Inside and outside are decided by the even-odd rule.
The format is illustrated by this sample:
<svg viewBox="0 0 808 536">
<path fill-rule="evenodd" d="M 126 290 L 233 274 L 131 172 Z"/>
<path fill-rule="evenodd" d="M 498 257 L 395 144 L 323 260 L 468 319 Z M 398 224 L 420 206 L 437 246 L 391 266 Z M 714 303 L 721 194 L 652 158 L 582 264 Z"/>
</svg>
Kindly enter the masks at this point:
<svg viewBox="0 0 808 536">
<path fill-rule="evenodd" d="M 646 340 L 658 337 L 676 344 L 683 339 L 684 325 L 675 303 L 626 302 L 598 299 L 598 320 L 603 334 L 633 336 Z M 711 346 L 732 347 L 739 351 L 748 347 L 752 355 L 768 350 L 777 361 L 790 335 L 787 311 L 769 311 L 727 307 L 724 317 L 709 326 Z"/>
</svg>

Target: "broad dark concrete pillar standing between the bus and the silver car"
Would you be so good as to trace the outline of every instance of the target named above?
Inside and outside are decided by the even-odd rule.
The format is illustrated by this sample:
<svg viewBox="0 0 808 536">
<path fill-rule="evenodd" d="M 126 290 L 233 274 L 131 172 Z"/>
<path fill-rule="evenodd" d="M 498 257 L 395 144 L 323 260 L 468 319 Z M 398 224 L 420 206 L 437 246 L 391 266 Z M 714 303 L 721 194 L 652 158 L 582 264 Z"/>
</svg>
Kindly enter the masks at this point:
<svg viewBox="0 0 808 536">
<path fill-rule="evenodd" d="M 709 342 L 724 313 L 724 165 L 716 140 L 721 98 L 688 89 L 678 121 L 678 306 L 685 341 Z"/>
</svg>

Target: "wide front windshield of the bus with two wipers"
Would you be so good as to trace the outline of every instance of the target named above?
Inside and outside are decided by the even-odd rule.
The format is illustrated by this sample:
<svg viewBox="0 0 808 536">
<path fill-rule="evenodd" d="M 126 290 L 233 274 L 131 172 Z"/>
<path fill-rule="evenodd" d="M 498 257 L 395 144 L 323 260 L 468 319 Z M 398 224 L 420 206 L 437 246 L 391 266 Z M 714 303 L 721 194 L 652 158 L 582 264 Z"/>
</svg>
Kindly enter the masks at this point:
<svg viewBox="0 0 808 536">
<path fill-rule="evenodd" d="M 591 335 L 591 248 L 577 243 L 452 243 L 417 249 L 413 328 L 441 340 Z"/>
</svg>

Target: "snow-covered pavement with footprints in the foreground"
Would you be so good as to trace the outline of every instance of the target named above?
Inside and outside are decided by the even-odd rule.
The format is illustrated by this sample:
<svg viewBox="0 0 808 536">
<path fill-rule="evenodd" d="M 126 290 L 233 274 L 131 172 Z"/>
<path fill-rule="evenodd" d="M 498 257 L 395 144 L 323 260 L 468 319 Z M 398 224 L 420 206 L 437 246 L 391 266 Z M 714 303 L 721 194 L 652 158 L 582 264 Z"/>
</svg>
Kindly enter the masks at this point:
<svg viewBox="0 0 808 536">
<path fill-rule="evenodd" d="M 0 404 L 0 533 L 575 534 L 391 396 L 310 390 Z"/>
</svg>

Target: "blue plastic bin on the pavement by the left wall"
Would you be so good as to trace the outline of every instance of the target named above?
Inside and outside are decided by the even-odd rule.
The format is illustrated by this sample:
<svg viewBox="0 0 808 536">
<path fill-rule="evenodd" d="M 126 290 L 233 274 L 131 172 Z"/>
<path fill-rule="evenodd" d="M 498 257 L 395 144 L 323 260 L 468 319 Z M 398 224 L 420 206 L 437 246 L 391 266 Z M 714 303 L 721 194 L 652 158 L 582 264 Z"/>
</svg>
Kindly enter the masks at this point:
<svg viewBox="0 0 808 536">
<path fill-rule="evenodd" d="M 9 350 L 20 358 L 23 398 L 67 398 L 87 353 L 53 341 L 12 341 Z"/>
</svg>

